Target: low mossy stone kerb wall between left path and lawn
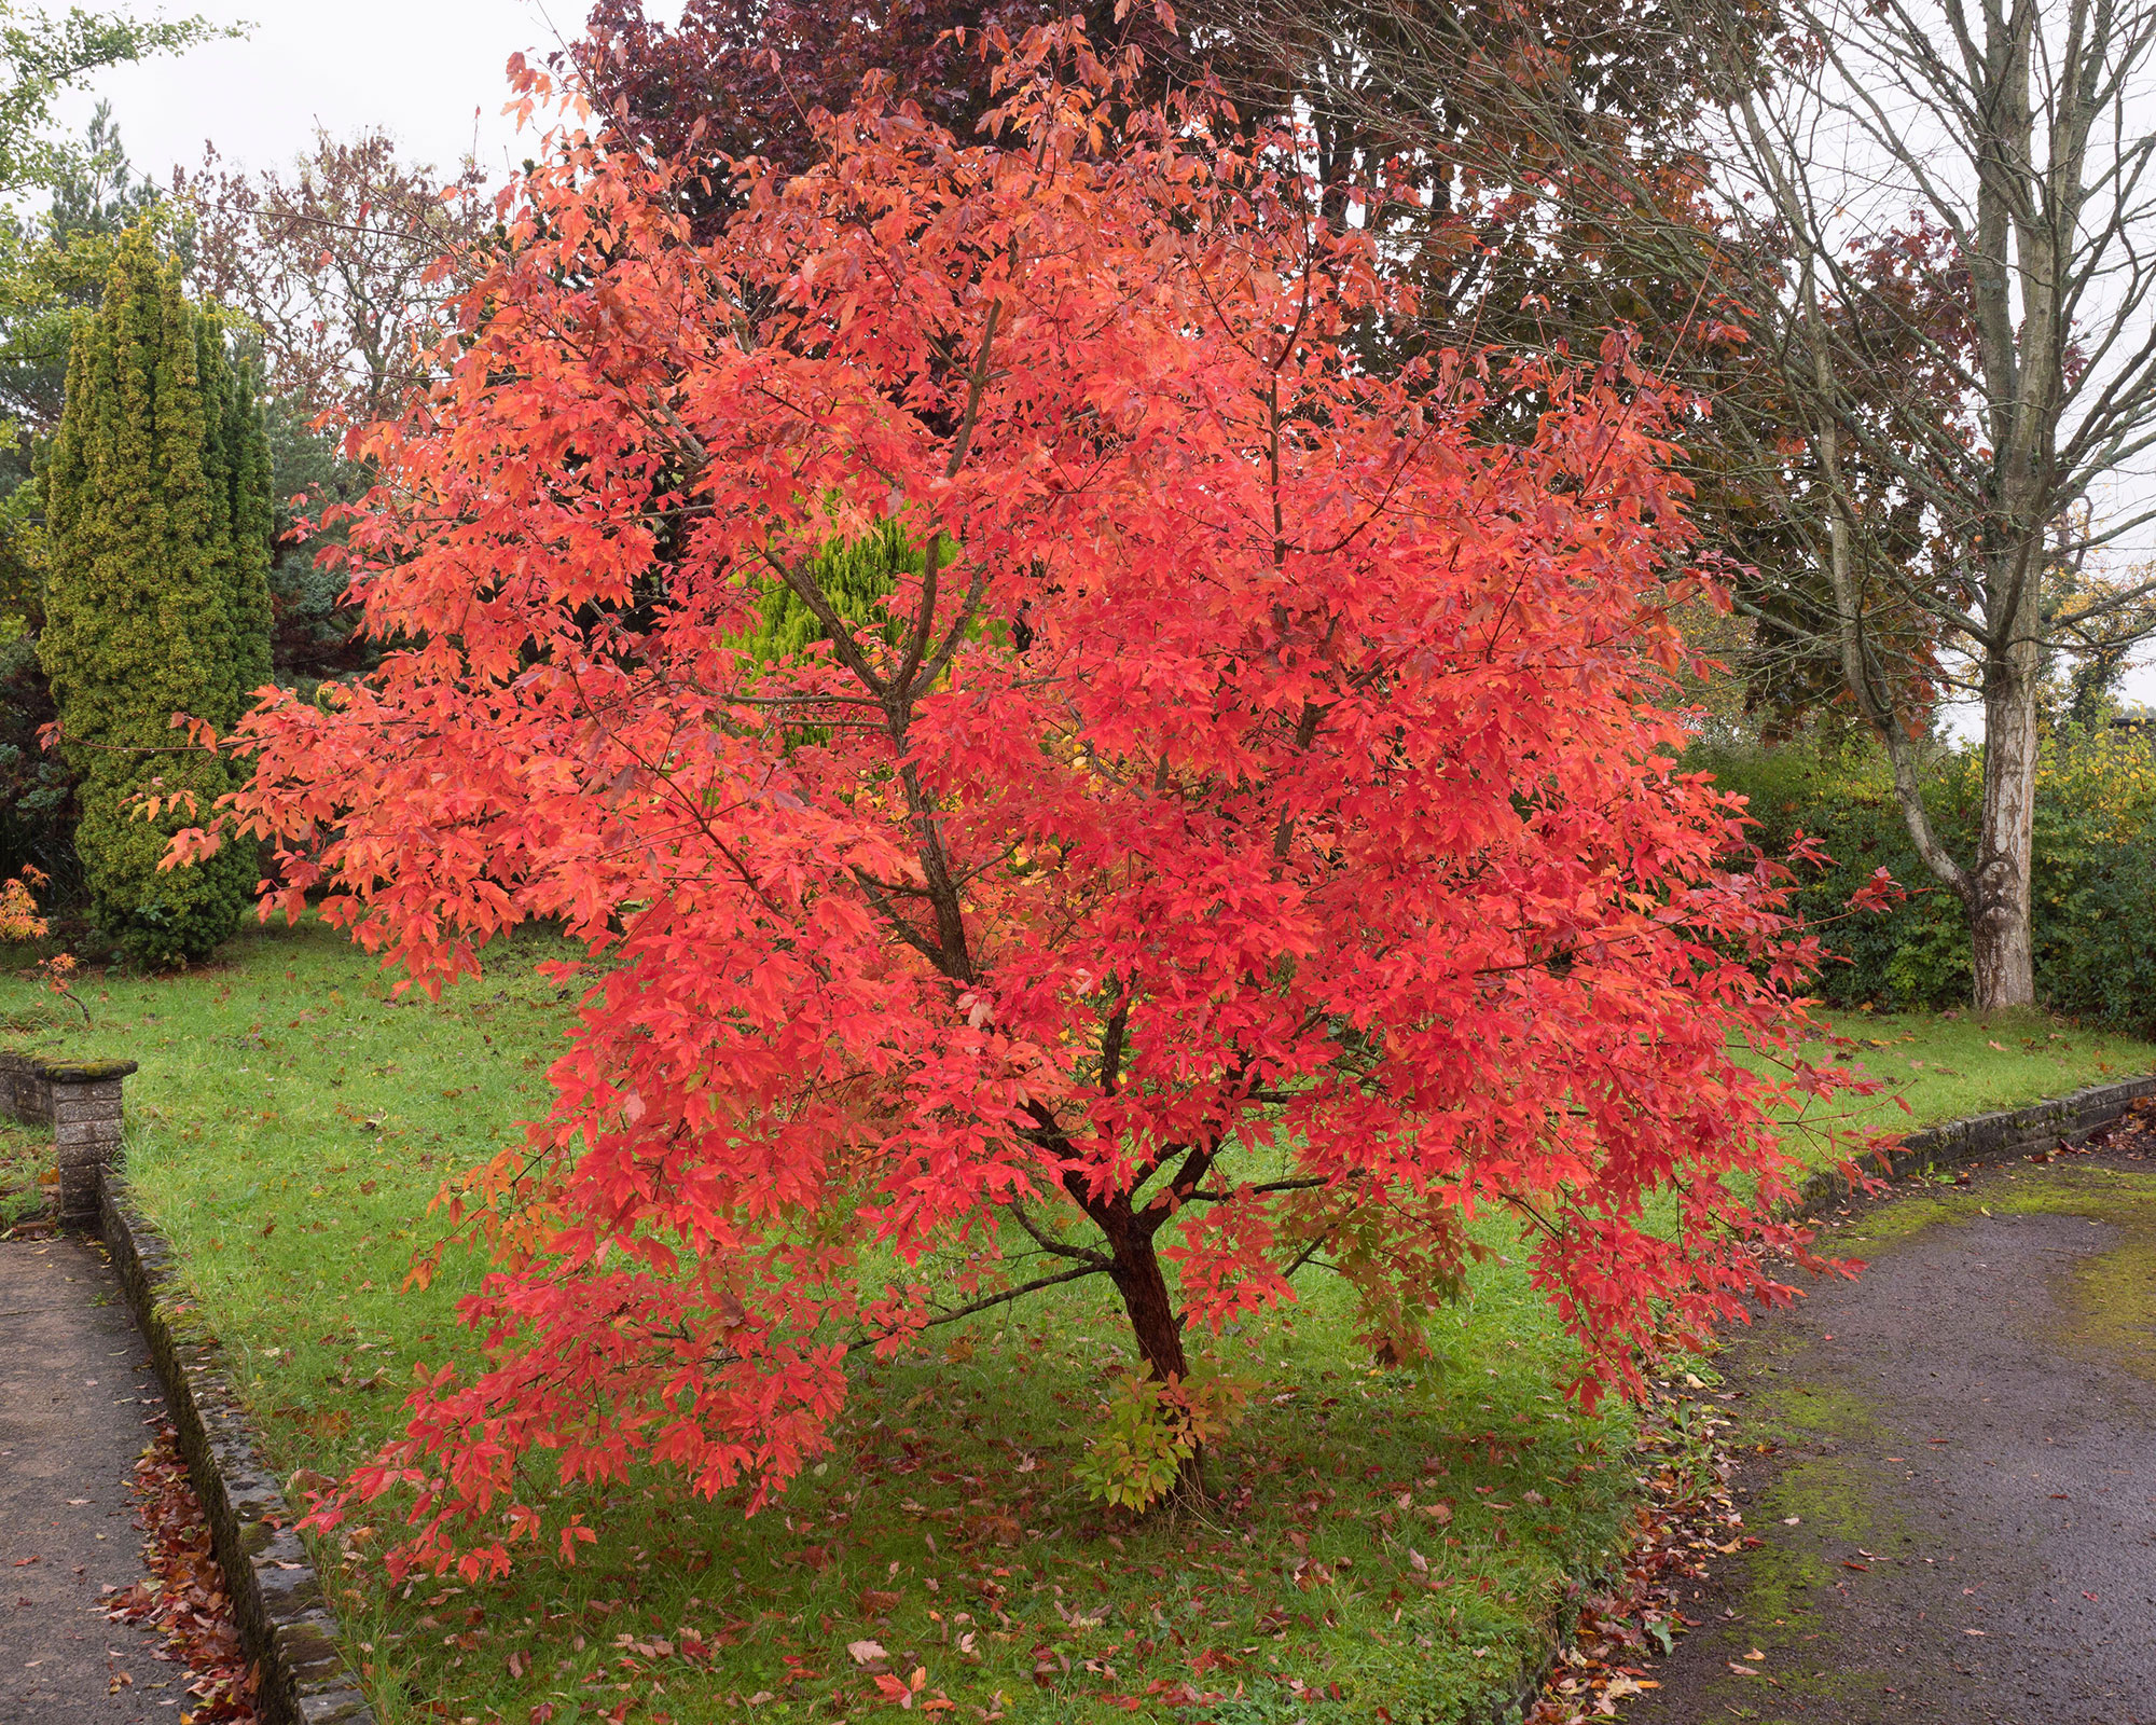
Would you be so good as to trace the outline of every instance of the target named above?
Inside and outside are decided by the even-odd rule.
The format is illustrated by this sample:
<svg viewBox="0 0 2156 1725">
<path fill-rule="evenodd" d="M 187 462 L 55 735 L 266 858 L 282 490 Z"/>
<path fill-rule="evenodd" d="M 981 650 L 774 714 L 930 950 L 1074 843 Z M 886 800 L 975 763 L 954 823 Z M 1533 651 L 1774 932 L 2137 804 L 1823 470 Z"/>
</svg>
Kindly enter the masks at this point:
<svg viewBox="0 0 2156 1725">
<path fill-rule="evenodd" d="M 106 1171 L 101 1188 L 106 1248 L 164 1380 L 179 1453 L 209 1518 L 239 1639 L 261 1665 L 265 1719 L 272 1725 L 375 1725 L 338 1652 L 336 1613 L 321 1576 L 291 1531 L 295 1516 L 254 1449 L 218 1350 L 172 1326 L 185 1305 L 170 1246 L 129 1203 L 116 1171 Z"/>
</svg>

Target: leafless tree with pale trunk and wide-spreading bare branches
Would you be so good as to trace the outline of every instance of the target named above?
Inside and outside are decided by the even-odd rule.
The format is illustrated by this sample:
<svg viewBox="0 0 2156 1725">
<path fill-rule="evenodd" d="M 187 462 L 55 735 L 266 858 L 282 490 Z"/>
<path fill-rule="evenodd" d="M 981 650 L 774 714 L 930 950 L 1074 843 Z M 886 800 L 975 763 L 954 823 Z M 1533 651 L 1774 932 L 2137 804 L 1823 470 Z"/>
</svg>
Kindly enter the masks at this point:
<svg viewBox="0 0 2156 1725">
<path fill-rule="evenodd" d="M 1656 362 L 1714 401 L 1701 505 L 1759 565 L 1761 660 L 1863 714 L 1968 910 L 1977 1003 L 2031 1003 L 2046 668 L 2126 651 L 2156 593 L 2083 578 L 2156 518 L 2091 507 L 2156 442 L 2156 0 L 1656 0 L 1621 56 L 1440 0 L 1250 4 L 1283 41 L 1330 32 L 1345 71 L 1313 110 L 1436 164 L 1434 209 L 1503 188 L 1529 254 L 1565 265 L 1574 343 L 1583 317 L 1660 326 Z M 1669 80 L 1660 134 L 1606 95 L 1619 65 Z M 1447 125 L 1475 110 L 1503 123 Z M 1429 233 L 1488 274 L 1488 235 Z M 1466 328 L 1434 300 L 1438 339 L 1522 334 L 1488 295 Z M 1955 692 L 1984 712 L 1966 856 L 1923 806 Z"/>
</svg>

